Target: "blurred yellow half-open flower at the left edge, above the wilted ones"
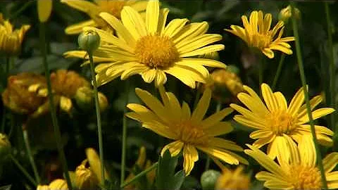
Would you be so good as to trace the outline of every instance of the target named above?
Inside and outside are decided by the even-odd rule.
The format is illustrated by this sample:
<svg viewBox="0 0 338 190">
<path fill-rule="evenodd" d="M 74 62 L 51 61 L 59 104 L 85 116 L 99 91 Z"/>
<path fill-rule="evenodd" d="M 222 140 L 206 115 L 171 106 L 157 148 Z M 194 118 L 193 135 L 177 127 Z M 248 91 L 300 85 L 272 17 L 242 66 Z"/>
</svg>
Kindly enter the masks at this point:
<svg viewBox="0 0 338 190">
<path fill-rule="evenodd" d="M 8 56 L 16 55 L 23 43 L 25 33 L 30 29 L 30 25 L 23 25 L 19 30 L 13 30 L 13 25 L 8 20 L 4 20 L 0 13 L 0 53 Z"/>
</svg>

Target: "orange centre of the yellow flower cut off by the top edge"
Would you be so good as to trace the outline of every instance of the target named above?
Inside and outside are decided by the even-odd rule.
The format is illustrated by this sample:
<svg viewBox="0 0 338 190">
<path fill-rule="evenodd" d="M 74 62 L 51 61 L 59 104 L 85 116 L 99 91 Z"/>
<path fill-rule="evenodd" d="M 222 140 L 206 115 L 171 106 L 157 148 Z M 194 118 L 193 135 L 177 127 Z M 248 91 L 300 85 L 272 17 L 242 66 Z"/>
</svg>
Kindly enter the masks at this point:
<svg viewBox="0 0 338 190">
<path fill-rule="evenodd" d="M 126 1 L 96 1 L 102 12 L 110 13 L 118 19 L 121 18 L 121 11 L 125 3 Z"/>
</svg>

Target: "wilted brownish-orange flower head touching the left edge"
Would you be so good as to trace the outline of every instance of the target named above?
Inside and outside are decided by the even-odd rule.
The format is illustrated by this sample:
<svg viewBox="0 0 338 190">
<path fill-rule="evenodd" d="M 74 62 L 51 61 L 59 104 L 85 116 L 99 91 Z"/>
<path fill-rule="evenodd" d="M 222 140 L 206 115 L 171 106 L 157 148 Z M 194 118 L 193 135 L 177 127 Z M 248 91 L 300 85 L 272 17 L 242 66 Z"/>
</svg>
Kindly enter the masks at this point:
<svg viewBox="0 0 338 190">
<path fill-rule="evenodd" d="M 2 101 L 6 107 L 15 113 L 39 115 L 41 113 L 39 108 L 46 102 L 46 99 L 29 91 L 29 87 L 32 84 L 43 85 L 45 82 L 41 75 L 27 72 L 8 77 L 7 88 L 2 94 Z"/>
</svg>

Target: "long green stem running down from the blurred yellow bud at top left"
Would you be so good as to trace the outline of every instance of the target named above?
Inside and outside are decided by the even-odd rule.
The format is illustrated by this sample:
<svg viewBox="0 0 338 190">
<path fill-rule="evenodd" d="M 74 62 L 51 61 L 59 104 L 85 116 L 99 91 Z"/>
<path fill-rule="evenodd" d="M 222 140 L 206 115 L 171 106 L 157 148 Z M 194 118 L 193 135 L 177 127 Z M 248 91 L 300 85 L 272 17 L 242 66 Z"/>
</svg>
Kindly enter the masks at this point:
<svg viewBox="0 0 338 190">
<path fill-rule="evenodd" d="M 51 90 L 51 73 L 49 72 L 49 65 L 47 63 L 46 56 L 46 25 L 45 23 L 40 23 L 39 25 L 39 33 L 40 33 L 40 48 L 42 53 L 42 62 L 44 63 L 44 75 L 46 76 L 46 83 L 48 89 L 48 99 L 49 99 L 49 110 L 51 112 L 51 122 L 54 128 L 54 136 L 56 139 L 56 146 L 58 148 L 58 156 L 61 160 L 63 172 L 65 173 L 65 180 L 68 184 L 68 189 L 72 190 L 72 182 L 70 181 L 70 176 L 68 172 L 67 160 L 65 159 L 65 153 L 63 151 L 63 145 L 61 141 L 61 132 L 60 127 L 58 126 L 58 118 L 56 118 L 56 110 L 54 105 L 54 94 Z"/>
</svg>

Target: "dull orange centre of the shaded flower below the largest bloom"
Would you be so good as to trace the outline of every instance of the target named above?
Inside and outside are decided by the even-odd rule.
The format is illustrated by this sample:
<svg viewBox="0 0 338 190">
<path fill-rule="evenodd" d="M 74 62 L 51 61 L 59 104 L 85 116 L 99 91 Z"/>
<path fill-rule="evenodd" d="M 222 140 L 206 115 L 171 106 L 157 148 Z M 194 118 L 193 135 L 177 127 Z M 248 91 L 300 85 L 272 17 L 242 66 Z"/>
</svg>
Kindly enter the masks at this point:
<svg viewBox="0 0 338 190">
<path fill-rule="evenodd" d="M 192 125 L 191 122 L 181 122 L 177 126 L 180 140 L 187 144 L 205 145 L 208 143 L 206 133 L 200 127 Z"/>
</svg>

